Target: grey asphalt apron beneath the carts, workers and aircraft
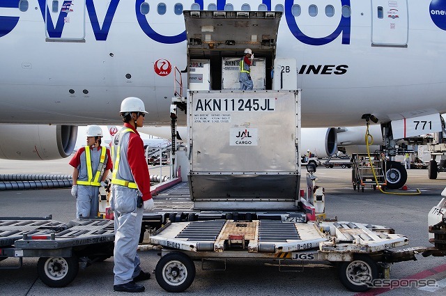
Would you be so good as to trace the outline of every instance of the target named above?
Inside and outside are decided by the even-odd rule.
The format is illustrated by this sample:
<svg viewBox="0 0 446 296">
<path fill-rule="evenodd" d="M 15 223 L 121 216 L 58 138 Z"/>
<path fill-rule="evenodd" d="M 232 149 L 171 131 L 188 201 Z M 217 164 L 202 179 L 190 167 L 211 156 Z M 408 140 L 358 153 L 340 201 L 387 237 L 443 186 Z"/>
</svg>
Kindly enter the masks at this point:
<svg viewBox="0 0 446 296">
<path fill-rule="evenodd" d="M 3 173 L 72 173 L 69 159 L 47 162 L 0 160 Z M 431 247 L 428 242 L 427 214 L 446 187 L 446 173 L 429 180 L 426 170 L 409 170 L 409 189 L 420 195 L 382 194 L 370 187 L 353 191 L 351 169 L 318 168 L 318 185 L 325 187 L 325 211 L 328 217 L 343 221 L 379 224 L 395 229 L 409 238 L 408 247 Z M 304 185 L 302 178 L 302 185 Z M 302 187 L 305 187 L 302 186 Z M 39 189 L 0 192 L 0 217 L 43 217 L 68 222 L 75 219 L 75 200 L 70 189 Z M 153 272 L 158 251 L 141 251 L 141 267 Z M 417 261 L 395 263 L 390 278 L 404 284 L 407 279 L 434 279 L 437 286 L 424 290 L 411 288 L 372 289 L 367 295 L 445 295 L 446 258 L 417 255 Z M 65 288 L 45 286 L 36 271 L 38 258 L 24 258 L 20 269 L 0 269 L 0 295 L 119 295 L 113 290 L 113 258 L 79 270 L 76 279 Z M 0 262 L 0 267 L 17 265 L 17 258 Z M 228 260 L 226 271 L 202 270 L 196 262 L 197 275 L 184 295 L 355 295 L 342 286 L 337 269 L 331 265 L 305 265 L 303 272 L 279 272 L 277 262 Z M 301 270 L 297 268 L 296 270 Z M 402 281 L 401 281 L 402 280 Z M 420 281 L 418 281 L 420 283 Z M 168 295 L 155 280 L 144 281 L 150 295 Z M 407 283 L 407 281 L 406 281 Z"/>
</svg>

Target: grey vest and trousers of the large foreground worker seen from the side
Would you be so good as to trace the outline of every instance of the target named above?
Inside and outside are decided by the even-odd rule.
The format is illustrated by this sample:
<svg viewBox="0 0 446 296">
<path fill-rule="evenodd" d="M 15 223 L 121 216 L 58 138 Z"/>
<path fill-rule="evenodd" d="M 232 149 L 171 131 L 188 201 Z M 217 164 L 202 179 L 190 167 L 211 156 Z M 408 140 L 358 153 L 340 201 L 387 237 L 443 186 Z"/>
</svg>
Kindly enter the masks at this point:
<svg viewBox="0 0 446 296">
<path fill-rule="evenodd" d="M 123 129 L 125 130 L 125 129 Z M 131 132 L 118 132 L 113 140 L 112 160 L 114 178 L 134 182 L 128 164 L 128 143 Z M 116 168 L 116 157 L 119 149 L 119 162 Z M 112 179 L 113 182 L 113 179 Z M 112 184 L 112 210 L 114 210 L 114 285 L 128 283 L 139 274 L 139 256 L 137 247 L 141 233 L 144 209 L 137 208 L 138 189 Z"/>
</svg>

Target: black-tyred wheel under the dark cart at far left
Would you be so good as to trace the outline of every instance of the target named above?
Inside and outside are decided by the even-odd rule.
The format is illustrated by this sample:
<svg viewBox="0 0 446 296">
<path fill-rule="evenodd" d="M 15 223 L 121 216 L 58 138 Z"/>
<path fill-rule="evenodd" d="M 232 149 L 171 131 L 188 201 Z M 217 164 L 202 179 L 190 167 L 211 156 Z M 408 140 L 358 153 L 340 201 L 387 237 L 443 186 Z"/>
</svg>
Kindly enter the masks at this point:
<svg viewBox="0 0 446 296">
<path fill-rule="evenodd" d="M 79 261 L 73 257 L 40 257 L 37 272 L 45 285 L 62 288 L 71 283 L 79 272 Z"/>
</svg>

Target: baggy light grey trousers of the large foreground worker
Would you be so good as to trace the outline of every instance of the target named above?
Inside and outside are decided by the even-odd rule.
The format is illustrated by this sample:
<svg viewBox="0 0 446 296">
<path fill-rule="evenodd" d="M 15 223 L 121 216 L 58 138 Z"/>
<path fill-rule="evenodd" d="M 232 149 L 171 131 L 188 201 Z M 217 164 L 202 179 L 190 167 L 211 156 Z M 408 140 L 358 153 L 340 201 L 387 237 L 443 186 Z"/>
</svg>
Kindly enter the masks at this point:
<svg viewBox="0 0 446 296">
<path fill-rule="evenodd" d="M 139 274 L 137 247 L 144 209 L 137 208 L 137 189 L 112 185 L 114 210 L 114 285 L 128 283 Z"/>
</svg>

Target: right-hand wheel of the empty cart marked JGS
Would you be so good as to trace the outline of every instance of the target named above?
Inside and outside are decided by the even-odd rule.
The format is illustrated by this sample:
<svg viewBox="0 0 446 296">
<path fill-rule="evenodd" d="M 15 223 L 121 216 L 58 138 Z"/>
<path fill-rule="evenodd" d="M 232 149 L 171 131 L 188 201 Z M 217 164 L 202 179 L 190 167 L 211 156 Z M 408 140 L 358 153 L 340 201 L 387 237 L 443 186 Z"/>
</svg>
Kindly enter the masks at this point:
<svg viewBox="0 0 446 296">
<path fill-rule="evenodd" d="M 351 262 L 338 265 L 339 281 L 353 292 L 370 290 L 371 281 L 378 276 L 378 265 L 369 256 L 357 255 Z"/>
</svg>

